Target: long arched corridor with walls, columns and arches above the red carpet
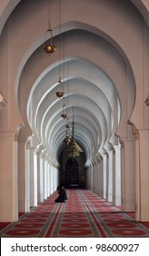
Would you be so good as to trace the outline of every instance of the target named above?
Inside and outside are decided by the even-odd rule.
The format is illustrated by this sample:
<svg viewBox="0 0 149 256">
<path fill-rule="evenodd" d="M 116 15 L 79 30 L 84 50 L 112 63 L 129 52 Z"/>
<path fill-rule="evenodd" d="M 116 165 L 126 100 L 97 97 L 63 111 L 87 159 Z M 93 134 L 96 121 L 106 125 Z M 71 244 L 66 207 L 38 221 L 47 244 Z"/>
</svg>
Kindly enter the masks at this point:
<svg viewBox="0 0 149 256">
<path fill-rule="evenodd" d="M 3 1 L 0 223 L 60 184 L 149 221 L 148 11 L 144 0 Z"/>
</svg>

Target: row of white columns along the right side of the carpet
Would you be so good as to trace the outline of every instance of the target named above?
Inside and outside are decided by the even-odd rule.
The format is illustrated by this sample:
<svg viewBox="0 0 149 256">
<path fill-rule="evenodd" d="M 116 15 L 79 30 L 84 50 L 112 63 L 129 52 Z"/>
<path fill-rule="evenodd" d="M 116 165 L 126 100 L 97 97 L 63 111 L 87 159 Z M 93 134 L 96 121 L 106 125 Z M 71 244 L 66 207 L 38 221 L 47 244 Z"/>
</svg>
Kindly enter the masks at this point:
<svg viewBox="0 0 149 256">
<path fill-rule="evenodd" d="M 124 179 L 122 179 L 121 155 L 122 145 L 119 144 L 99 157 L 96 162 L 94 161 L 94 164 L 86 170 L 86 187 L 114 206 L 122 207 L 124 211 L 134 211 L 133 179 L 124 185 L 127 189 L 131 187 L 132 196 L 126 197 L 122 190 Z"/>
</svg>

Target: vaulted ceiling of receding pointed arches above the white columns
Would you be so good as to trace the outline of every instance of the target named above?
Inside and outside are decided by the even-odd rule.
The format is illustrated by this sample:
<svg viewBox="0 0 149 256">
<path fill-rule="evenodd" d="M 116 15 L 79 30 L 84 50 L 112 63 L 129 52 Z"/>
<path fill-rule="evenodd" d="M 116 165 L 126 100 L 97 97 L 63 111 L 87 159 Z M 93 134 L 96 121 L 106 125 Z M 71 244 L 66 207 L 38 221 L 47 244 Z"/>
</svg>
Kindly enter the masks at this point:
<svg viewBox="0 0 149 256">
<path fill-rule="evenodd" d="M 141 26 L 142 16 L 148 24 L 147 13 L 145 1 L 5 3 L 1 31 L 3 37 L 9 32 L 12 46 L 15 102 L 26 129 L 32 130 L 54 162 L 64 148 L 66 122 L 72 126 L 73 109 L 75 139 L 88 165 L 95 155 L 118 144 L 119 134 L 127 136 L 135 101 L 129 44 L 137 45 L 132 33 Z M 49 19 L 57 48 L 50 56 L 44 51 Z M 67 120 L 61 117 L 64 99 L 55 95 L 59 76 Z"/>
</svg>

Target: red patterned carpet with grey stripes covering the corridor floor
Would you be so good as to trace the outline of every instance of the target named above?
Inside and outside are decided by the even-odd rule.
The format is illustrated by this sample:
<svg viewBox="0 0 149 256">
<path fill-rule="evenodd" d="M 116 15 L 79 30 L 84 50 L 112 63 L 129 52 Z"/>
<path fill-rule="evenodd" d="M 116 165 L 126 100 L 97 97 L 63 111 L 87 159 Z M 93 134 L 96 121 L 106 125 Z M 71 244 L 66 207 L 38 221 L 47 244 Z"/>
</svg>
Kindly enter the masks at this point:
<svg viewBox="0 0 149 256">
<path fill-rule="evenodd" d="M 134 213 L 124 214 L 87 189 L 67 189 L 67 195 L 55 204 L 54 193 L 18 221 L 0 223 L 0 237 L 149 238 L 149 222 L 136 222 Z"/>
</svg>

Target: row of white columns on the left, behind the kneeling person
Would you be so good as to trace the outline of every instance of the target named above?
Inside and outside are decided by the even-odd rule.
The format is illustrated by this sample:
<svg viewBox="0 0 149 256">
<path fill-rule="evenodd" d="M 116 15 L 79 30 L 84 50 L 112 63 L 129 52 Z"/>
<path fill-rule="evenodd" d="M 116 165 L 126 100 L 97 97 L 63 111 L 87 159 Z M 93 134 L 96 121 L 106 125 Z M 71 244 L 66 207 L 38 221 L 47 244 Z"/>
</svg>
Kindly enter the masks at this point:
<svg viewBox="0 0 149 256">
<path fill-rule="evenodd" d="M 49 161 L 44 147 L 34 142 L 32 136 L 24 143 L 18 141 L 18 166 L 22 166 L 18 174 L 18 212 L 29 212 L 59 185 L 59 169 Z"/>
</svg>

